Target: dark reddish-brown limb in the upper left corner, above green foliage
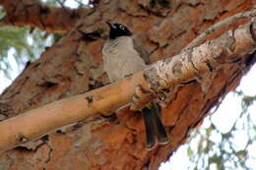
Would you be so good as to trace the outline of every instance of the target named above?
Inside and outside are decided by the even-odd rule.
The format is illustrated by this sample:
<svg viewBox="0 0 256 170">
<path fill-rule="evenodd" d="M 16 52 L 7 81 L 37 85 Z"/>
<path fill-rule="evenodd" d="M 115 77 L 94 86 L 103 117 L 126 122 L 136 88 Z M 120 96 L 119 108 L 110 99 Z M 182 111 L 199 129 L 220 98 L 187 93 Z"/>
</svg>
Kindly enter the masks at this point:
<svg viewBox="0 0 256 170">
<path fill-rule="evenodd" d="M 86 10 L 54 8 L 41 4 L 39 1 L 0 0 L 6 12 L 5 21 L 13 26 L 30 26 L 48 32 L 64 33 L 74 28 Z"/>
</svg>

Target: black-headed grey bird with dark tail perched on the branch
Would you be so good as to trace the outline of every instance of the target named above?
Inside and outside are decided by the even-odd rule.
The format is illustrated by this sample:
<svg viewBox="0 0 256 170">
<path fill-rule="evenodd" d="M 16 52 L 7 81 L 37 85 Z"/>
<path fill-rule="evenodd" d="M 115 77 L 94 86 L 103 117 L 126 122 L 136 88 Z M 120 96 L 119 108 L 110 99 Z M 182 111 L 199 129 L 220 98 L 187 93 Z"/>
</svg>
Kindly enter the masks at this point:
<svg viewBox="0 0 256 170">
<path fill-rule="evenodd" d="M 149 63 L 149 53 L 133 33 L 122 24 L 105 22 L 109 35 L 102 48 L 103 69 L 109 81 L 115 83 L 137 72 Z M 157 143 L 169 142 L 160 120 L 160 107 L 156 102 L 148 103 L 141 110 L 146 131 L 146 147 L 153 149 Z"/>
</svg>

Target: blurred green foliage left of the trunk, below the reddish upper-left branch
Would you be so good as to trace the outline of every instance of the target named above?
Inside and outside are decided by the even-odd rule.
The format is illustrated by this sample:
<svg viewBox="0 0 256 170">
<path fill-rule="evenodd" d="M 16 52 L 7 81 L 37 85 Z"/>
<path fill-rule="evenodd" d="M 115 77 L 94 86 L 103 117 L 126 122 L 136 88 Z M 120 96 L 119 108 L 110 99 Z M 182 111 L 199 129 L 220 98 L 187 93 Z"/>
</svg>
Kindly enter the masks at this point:
<svg viewBox="0 0 256 170">
<path fill-rule="evenodd" d="M 51 35 L 39 29 L 2 27 L 0 28 L 0 71 L 10 78 L 13 68 L 8 56 L 12 52 L 18 70 L 21 71 L 28 61 L 38 58 L 46 46 L 52 43 Z"/>
</svg>

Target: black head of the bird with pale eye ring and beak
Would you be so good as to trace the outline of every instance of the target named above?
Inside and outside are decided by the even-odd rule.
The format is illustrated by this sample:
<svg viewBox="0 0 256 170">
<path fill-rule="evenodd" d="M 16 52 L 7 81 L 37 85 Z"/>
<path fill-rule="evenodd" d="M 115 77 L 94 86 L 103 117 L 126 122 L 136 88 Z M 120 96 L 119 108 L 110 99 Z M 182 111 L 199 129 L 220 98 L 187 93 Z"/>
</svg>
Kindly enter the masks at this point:
<svg viewBox="0 0 256 170">
<path fill-rule="evenodd" d="M 123 25 L 121 24 L 111 24 L 109 22 L 106 22 L 106 24 L 109 26 L 110 28 L 110 31 L 109 31 L 109 38 L 110 39 L 115 39 L 119 36 L 130 36 L 132 35 L 132 32 L 124 27 Z"/>
</svg>

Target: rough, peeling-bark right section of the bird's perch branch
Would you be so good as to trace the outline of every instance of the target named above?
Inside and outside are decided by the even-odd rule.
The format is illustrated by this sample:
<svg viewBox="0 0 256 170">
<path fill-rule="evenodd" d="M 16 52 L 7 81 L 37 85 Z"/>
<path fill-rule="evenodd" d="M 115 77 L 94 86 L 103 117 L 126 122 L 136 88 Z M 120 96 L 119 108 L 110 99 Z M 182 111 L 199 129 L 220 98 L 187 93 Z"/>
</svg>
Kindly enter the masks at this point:
<svg viewBox="0 0 256 170">
<path fill-rule="evenodd" d="M 169 88 L 169 85 L 183 85 L 198 75 L 237 60 L 238 55 L 251 53 L 255 45 L 255 28 L 255 23 L 250 23 L 228 30 L 216 39 L 151 65 L 145 71 L 145 77 L 156 91 Z"/>
</svg>

